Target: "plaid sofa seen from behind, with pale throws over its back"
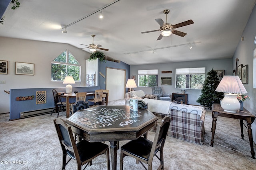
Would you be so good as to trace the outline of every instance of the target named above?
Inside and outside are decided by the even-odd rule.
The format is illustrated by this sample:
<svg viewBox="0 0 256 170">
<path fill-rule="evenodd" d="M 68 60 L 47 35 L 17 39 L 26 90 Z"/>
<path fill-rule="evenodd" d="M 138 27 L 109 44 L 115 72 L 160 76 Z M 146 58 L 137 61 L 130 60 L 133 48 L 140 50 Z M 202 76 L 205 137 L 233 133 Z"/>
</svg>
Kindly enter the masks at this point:
<svg viewBox="0 0 256 170">
<path fill-rule="evenodd" d="M 174 104 L 147 98 L 143 100 L 148 104 L 148 109 L 158 117 L 156 126 L 152 131 L 155 132 L 164 116 L 168 115 L 172 118 L 168 136 L 203 145 L 204 117 L 206 114 L 204 107 Z"/>
</svg>

